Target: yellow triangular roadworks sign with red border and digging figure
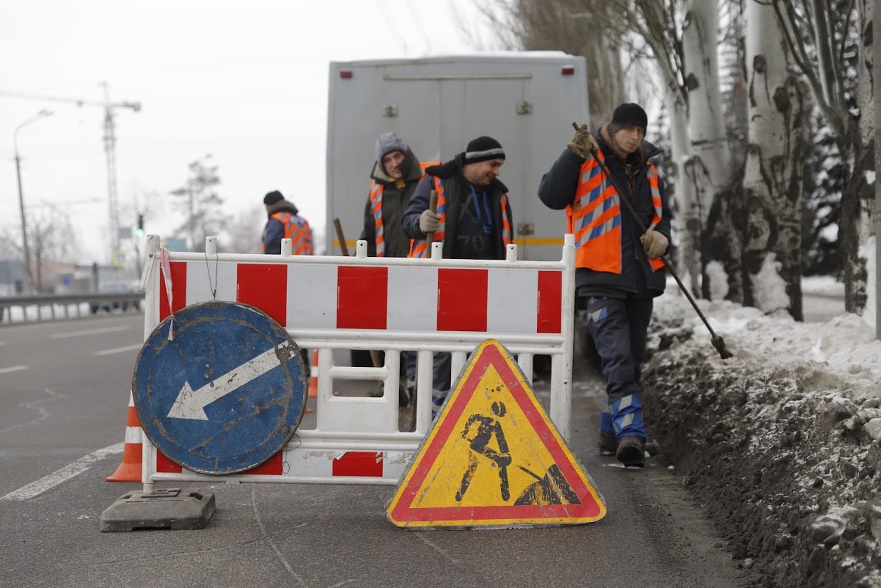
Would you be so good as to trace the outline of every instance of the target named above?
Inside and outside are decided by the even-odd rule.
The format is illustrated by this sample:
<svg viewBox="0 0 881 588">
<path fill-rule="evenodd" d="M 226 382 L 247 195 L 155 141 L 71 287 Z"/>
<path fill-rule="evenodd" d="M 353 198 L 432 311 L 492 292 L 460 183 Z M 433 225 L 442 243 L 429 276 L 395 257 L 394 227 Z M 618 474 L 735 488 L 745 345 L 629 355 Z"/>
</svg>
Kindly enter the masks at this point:
<svg viewBox="0 0 881 588">
<path fill-rule="evenodd" d="M 578 525 L 605 504 L 520 367 L 487 339 L 386 508 L 400 527 Z"/>
</svg>

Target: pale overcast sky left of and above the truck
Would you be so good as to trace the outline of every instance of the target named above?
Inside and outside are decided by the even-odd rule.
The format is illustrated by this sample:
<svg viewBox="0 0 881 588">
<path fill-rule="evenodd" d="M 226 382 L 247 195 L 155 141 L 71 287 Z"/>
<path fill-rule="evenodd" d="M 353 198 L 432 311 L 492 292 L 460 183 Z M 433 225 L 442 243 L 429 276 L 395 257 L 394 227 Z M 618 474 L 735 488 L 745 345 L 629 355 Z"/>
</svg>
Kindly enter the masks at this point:
<svg viewBox="0 0 881 588">
<path fill-rule="evenodd" d="M 211 153 L 225 212 L 262 208 L 265 192 L 282 190 L 323 227 L 329 61 L 473 52 L 458 26 L 478 23 L 471 4 L 5 1 L 0 92 L 103 101 L 107 81 L 112 101 L 141 103 L 115 110 L 122 226 L 145 209 L 148 232 L 166 236 L 178 222 L 167 193 Z M 0 231 L 20 238 L 13 136 L 41 108 L 54 115 L 18 133 L 26 212 L 69 211 L 75 261 L 106 262 L 100 107 L 0 95 Z"/>
</svg>

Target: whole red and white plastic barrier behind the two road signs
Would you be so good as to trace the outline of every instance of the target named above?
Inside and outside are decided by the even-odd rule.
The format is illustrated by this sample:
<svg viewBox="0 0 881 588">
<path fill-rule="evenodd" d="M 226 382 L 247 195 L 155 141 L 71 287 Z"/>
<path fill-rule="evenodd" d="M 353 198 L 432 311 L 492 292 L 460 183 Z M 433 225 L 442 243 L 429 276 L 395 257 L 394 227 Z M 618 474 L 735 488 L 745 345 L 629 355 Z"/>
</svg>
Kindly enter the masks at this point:
<svg viewBox="0 0 881 588">
<path fill-rule="evenodd" d="M 202 301 L 238 301 L 263 309 L 285 325 L 301 347 L 318 353 L 315 428 L 297 429 L 292 443 L 254 470 L 229 474 L 241 481 L 395 484 L 431 426 L 432 361 L 452 353 L 455 377 L 467 354 L 497 339 L 517 354 L 524 373 L 535 354 L 552 356 L 550 416 L 569 435 L 574 313 L 574 240 L 566 235 L 559 262 L 432 257 L 280 256 L 159 249 L 147 239 L 144 336 L 172 311 Z M 160 255 L 161 253 L 161 255 Z M 160 260 L 167 263 L 159 271 Z M 168 282 L 165 276 L 168 276 Z M 170 294 L 170 296 L 169 296 Z M 169 300 L 170 298 L 170 300 Z M 354 368 L 333 363 L 335 349 L 381 349 L 385 365 Z M 416 430 L 398 430 L 399 354 L 418 352 Z M 383 382 L 381 398 L 335 396 L 335 379 Z M 204 480 L 164 458 L 144 437 L 144 490 L 157 480 Z"/>
</svg>

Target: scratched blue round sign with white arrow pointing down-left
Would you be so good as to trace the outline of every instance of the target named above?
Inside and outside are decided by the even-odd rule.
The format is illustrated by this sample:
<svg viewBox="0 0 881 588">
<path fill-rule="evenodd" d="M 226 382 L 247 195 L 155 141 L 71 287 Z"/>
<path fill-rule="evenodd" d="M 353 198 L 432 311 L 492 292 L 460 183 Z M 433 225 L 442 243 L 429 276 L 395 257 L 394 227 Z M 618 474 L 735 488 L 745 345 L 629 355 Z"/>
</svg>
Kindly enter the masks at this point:
<svg viewBox="0 0 881 588">
<path fill-rule="evenodd" d="M 305 369 L 297 344 L 262 310 L 194 304 L 162 321 L 138 354 L 137 418 L 175 463 L 243 472 L 291 440 L 306 408 Z"/>
</svg>

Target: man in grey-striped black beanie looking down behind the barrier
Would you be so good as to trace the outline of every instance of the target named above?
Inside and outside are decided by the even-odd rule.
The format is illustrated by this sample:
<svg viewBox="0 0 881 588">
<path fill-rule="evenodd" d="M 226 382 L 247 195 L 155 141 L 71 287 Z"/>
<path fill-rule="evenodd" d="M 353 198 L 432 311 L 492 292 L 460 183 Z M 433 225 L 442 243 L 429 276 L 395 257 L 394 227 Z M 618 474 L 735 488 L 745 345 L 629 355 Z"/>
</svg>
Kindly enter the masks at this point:
<svg viewBox="0 0 881 588">
<path fill-rule="evenodd" d="M 440 166 L 426 168 L 401 227 L 412 239 L 408 257 L 430 257 L 426 235 L 442 243 L 445 259 L 504 259 L 514 242 L 514 217 L 507 187 L 499 181 L 505 150 L 492 137 L 478 137 Z M 437 210 L 429 208 L 437 191 Z M 433 414 L 450 388 L 450 355 L 434 354 Z"/>
</svg>

